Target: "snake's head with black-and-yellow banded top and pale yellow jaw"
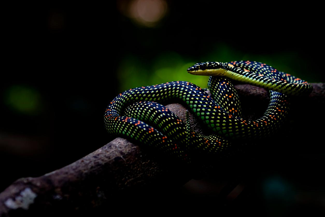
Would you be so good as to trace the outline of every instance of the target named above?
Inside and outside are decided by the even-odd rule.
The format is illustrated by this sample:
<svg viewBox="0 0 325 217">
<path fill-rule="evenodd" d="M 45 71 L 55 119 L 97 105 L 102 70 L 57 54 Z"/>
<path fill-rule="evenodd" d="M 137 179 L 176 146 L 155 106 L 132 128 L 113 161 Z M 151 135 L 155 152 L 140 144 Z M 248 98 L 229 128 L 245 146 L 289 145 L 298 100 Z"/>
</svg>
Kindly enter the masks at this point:
<svg viewBox="0 0 325 217">
<path fill-rule="evenodd" d="M 198 62 L 187 69 L 192 75 L 223 75 L 224 65 L 220 62 Z"/>
</svg>

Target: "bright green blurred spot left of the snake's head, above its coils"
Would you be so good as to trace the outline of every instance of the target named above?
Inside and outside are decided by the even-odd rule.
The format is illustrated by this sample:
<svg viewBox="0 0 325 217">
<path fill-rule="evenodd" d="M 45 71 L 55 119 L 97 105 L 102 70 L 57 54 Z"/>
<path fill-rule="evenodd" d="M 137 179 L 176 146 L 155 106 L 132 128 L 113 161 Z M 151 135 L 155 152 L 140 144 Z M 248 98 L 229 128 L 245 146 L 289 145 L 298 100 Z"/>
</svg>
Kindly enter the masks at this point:
<svg viewBox="0 0 325 217">
<path fill-rule="evenodd" d="M 187 68 L 194 63 L 196 62 L 185 60 L 172 51 L 156 55 L 153 61 L 143 59 L 138 54 L 127 54 L 117 69 L 119 92 L 170 81 L 188 81 L 204 88 L 207 86 L 208 76 L 191 75 L 187 72 Z"/>
</svg>

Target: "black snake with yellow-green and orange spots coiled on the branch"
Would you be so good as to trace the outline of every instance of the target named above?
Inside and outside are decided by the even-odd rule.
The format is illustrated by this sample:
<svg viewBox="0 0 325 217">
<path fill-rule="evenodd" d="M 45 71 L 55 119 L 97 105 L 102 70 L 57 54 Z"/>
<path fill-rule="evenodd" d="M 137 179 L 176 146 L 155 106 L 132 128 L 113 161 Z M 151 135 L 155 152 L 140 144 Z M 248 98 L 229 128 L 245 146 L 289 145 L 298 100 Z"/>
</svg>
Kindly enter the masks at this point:
<svg viewBox="0 0 325 217">
<path fill-rule="evenodd" d="M 209 76 L 211 96 L 187 81 L 130 88 L 109 103 L 104 115 L 106 130 L 190 161 L 189 153 L 198 150 L 222 153 L 231 141 L 274 135 L 289 111 L 289 95 L 307 96 L 312 91 L 308 82 L 256 61 L 199 62 L 187 72 Z M 240 101 L 232 80 L 270 90 L 270 102 L 262 117 L 240 117 Z M 188 122 L 162 105 L 170 102 L 182 102 L 211 133 L 191 131 Z"/>
</svg>

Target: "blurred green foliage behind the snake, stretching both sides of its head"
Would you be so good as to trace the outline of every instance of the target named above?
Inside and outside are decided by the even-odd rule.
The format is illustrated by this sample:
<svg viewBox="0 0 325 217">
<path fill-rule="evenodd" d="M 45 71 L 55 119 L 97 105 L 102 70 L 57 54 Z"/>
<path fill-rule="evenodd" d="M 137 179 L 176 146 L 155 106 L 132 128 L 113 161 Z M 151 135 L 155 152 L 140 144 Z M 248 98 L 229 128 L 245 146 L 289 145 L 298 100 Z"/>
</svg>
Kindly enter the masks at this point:
<svg viewBox="0 0 325 217">
<path fill-rule="evenodd" d="M 170 81 L 189 81 L 202 88 L 207 87 L 208 77 L 190 75 L 187 68 L 203 61 L 239 61 L 251 60 L 271 65 L 280 71 L 301 77 L 308 82 L 317 81 L 313 73 L 306 73 L 300 57 L 290 51 L 271 54 L 244 53 L 226 43 L 212 43 L 206 53 L 194 54 L 197 59 L 189 58 L 175 51 L 157 52 L 147 59 L 147 55 L 128 53 L 123 56 L 117 69 L 120 82 L 119 92 L 129 88 L 161 84 Z"/>
</svg>

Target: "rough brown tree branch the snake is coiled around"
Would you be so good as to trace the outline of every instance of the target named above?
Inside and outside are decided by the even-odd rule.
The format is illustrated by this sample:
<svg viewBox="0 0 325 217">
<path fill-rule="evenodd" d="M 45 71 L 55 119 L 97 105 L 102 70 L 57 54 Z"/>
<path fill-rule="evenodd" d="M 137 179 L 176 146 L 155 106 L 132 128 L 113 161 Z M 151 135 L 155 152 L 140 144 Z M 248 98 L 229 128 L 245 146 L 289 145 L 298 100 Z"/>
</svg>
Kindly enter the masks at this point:
<svg viewBox="0 0 325 217">
<path fill-rule="evenodd" d="M 325 84 L 312 85 L 314 90 L 303 103 L 300 99 L 292 103 L 288 130 L 293 135 L 299 133 L 295 127 L 298 123 L 313 126 L 311 112 L 324 106 Z M 249 85 L 237 85 L 236 88 L 243 113 L 247 117 L 262 115 L 268 104 L 268 91 Z M 183 106 L 170 104 L 168 107 L 184 120 L 186 109 Z M 323 120 L 324 115 L 318 118 Z M 195 118 L 191 116 L 190 119 L 194 130 L 203 129 Z M 283 135 L 281 138 L 292 140 Z M 82 214 L 103 209 L 104 205 L 129 196 L 130 192 L 138 194 L 152 186 L 163 186 L 163 189 L 182 186 L 194 175 L 191 169 L 166 164 L 164 159 L 153 157 L 145 147 L 116 138 L 66 167 L 12 183 L 0 194 L 0 216 L 48 215 L 60 213 L 60 210 L 77 210 Z"/>
</svg>

